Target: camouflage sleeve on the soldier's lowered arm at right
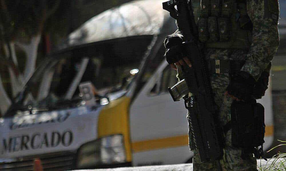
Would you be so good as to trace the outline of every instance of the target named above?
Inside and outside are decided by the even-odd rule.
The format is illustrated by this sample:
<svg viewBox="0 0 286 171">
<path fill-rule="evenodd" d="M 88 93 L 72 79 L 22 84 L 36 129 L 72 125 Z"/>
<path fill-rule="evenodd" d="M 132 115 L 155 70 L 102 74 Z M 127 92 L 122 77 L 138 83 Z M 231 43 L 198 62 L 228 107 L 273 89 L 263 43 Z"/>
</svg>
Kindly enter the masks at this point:
<svg viewBox="0 0 286 171">
<path fill-rule="evenodd" d="M 252 44 L 241 70 L 258 80 L 279 46 L 278 0 L 248 0 L 247 12 L 253 23 Z"/>
</svg>

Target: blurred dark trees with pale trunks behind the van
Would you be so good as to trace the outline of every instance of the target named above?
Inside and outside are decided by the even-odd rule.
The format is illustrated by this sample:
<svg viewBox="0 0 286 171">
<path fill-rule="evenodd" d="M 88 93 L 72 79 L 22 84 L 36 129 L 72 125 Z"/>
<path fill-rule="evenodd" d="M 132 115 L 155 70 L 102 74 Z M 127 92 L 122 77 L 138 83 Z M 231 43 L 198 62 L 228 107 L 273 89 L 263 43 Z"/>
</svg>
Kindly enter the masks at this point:
<svg viewBox="0 0 286 171">
<path fill-rule="evenodd" d="M 129 1 L 0 0 L 0 112 L 27 83 L 37 61 L 55 50 L 63 37 L 95 15 Z"/>
</svg>

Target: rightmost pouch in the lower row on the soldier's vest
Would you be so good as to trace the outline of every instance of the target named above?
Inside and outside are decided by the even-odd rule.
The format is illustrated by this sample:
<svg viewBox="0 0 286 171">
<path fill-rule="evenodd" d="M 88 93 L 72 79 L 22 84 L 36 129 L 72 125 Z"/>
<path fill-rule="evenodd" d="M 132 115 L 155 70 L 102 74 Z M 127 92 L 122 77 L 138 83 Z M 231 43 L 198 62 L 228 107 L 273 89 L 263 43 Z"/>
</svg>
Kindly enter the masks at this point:
<svg viewBox="0 0 286 171">
<path fill-rule="evenodd" d="M 218 18 L 219 25 L 219 41 L 226 42 L 230 37 L 231 24 L 229 18 L 220 17 Z"/>
</svg>

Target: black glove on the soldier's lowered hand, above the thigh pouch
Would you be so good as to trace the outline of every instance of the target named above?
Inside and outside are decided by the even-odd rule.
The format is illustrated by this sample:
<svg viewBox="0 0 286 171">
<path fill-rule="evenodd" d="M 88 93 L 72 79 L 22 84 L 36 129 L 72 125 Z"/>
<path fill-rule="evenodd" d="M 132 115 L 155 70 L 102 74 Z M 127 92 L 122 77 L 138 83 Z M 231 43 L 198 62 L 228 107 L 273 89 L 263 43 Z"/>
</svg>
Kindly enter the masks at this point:
<svg viewBox="0 0 286 171">
<path fill-rule="evenodd" d="M 254 84 L 255 80 L 248 72 L 240 71 L 231 77 L 227 91 L 230 95 L 247 101 L 252 97 Z"/>
</svg>

